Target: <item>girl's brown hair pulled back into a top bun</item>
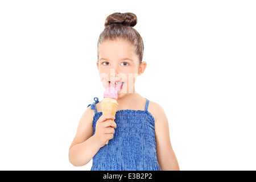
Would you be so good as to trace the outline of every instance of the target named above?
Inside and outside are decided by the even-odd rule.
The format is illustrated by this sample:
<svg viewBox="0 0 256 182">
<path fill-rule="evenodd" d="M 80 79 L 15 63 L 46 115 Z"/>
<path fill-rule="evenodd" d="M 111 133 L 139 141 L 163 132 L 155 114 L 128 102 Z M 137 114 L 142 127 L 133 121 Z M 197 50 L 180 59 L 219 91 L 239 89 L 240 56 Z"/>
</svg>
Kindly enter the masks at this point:
<svg viewBox="0 0 256 182">
<path fill-rule="evenodd" d="M 113 13 L 105 20 L 104 31 L 98 38 L 97 57 L 99 58 L 99 47 L 104 40 L 116 40 L 118 38 L 129 40 L 135 46 L 135 53 L 142 62 L 144 44 L 141 35 L 133 27 L 137 24 L 137 16 L 133 13 Z"/>
</svg>

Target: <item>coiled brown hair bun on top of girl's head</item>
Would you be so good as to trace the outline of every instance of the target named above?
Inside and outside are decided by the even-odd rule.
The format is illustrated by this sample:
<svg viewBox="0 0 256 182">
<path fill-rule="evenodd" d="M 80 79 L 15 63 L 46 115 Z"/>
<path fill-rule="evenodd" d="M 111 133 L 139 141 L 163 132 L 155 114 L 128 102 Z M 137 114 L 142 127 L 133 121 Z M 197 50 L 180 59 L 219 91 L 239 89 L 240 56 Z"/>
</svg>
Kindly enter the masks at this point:
<svg viewBox="0 0 256 182">
<path fill-rule="evenodd" d="M 106 18 L 105 27 L 112 24 L 134 27 L 137 24 L 137 16 L 133 13 L 113 13 Z"/>
</svg>

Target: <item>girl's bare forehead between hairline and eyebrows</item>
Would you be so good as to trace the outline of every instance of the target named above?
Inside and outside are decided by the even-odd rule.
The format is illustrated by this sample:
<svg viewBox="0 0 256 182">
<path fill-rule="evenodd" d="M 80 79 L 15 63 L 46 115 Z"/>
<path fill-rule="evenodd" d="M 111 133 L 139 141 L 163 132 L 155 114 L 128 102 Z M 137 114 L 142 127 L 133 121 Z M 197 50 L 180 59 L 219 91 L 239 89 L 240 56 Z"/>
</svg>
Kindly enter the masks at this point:
<svg viewBox="0 0 256 182">
<path fill-rule="evenodd" d="M 135 46 L 127 40 L 105 40 L 99 47 L 99 58 L 118 59 L 120 57 L 133 58 L 135 55 Z"/>
</svg>

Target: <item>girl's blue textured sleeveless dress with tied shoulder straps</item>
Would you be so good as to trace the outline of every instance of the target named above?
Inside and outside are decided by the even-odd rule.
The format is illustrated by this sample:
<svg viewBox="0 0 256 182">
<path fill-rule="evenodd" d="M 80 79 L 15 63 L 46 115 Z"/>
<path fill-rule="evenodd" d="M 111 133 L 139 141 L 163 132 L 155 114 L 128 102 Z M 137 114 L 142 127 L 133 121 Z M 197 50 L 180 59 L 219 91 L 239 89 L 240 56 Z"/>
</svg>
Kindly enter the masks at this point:
<svg viewBox="0 0 256 182">
<path fill-rule="evenodd" d="M 97 97 L 90 106 L 94 109 L 93 134 L 98 118 Z M 115 113 L 114 138 L 101 147 L 93 157 L 92 171 L 160 171 L 156 159 L 155 119 L 145 110 L 118 110 Z"/>
</svg>

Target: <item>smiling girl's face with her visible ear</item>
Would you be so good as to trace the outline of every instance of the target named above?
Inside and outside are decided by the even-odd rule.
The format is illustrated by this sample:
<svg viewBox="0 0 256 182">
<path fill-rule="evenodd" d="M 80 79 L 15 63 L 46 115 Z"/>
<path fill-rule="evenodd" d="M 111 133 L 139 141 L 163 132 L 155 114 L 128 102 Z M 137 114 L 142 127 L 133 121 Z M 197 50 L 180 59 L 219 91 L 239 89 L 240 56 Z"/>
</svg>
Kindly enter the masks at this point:
<svg viewBox="0 0 256 182">
<path fill-rule="evenodd" d="M 139 64 L 135 46 L 127 40 L 105 40 L 98 51 L 97 67 L 104 87 L 115 86 L 119 94 L 135 93 L 135 80 L 146 68 L 146 62 Z"/>
</svg>

